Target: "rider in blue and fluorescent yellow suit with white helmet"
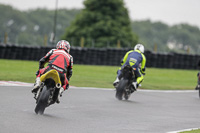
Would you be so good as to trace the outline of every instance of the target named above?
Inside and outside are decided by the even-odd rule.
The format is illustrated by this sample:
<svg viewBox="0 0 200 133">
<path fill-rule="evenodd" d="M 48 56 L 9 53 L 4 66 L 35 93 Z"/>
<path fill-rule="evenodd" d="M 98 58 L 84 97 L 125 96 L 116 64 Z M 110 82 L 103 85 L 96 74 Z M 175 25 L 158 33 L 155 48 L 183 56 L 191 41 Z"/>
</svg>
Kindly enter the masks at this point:
<svg viewBox="0 0 200 133">
<path fill-rule="evenodd" d="M 119 76 L 121 74 L 121 69 L 126 66 L 126 65 L 130 65 L 137 77 L 136 82 L 133 82 L 132 85 L 134 86 L 134 89 L 137 89 L 139 84 L 141 84 L 141 82 L 144 79 L 145 75 L 145 69 L 146 69 L 146 57 L 143 54 L 144 53 L 144 46 L 142 44 L 137 44 L 134 47 L 134 50 L 130 50 L 128 51 L 123 60 L 121 61 L 121 68 L 117 71 L 117 78 L 116 80 L 113 82 L 113 86 L 117 87 L 118 83 L 119 83 Z"/>
</svg>

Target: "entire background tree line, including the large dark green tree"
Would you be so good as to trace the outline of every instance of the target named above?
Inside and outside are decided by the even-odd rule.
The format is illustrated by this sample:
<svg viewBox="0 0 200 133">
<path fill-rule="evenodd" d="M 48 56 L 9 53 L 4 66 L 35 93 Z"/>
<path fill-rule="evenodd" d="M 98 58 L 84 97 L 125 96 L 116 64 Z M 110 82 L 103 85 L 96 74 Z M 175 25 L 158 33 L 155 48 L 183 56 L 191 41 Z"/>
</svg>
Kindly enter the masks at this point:
<svg viewBox="0 0 200 133">
<path fill-rule="evenodd" d="M 200 52 L 200 30 L 196 26 L 168 26 L 150 20 L 130 21 L 121 0 L 116 1 L 121 6 L 115 6 L 116 3 L 112 0 L 99 2 L 101 6 L 95 4 L 94 0 L 86 0 L 83 10 L 59 9 L 55 40 L 67 38 L 72 46 L 84 43 L 85 47 L 117 47 L 118 44 L 121 47 L 133 47 L 133 44 L 139 42 L 151 51 L 192 54 Z M 0 4 L 0 12 L 1 43 L 6 41 L 16 45 L 55 45 L 50 40 L 55 10 L 19 11 Z M 89 28 L 85 28 L 88 23 Z M 101 32 L 105 36 L 97 38 Z"/>
</svg>

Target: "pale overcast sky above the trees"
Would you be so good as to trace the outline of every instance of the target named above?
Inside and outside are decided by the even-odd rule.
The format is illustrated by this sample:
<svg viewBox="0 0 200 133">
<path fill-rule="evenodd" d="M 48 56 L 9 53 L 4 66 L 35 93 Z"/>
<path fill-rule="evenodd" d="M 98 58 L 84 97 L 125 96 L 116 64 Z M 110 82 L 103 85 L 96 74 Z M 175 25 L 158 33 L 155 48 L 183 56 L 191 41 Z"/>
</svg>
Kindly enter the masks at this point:
<svg viewBox="0 0 200 133">
<path fill-rule="evenodd" d="M 84 0 L 58 0 L 58 8 L 84 8 Z M 168 25 L 188 23 L 200 28 L 200 0 L 124 0 L 130 18 L 161 21 Z M 56 0 L 0 0 L 20 10 L 55 9 Z"/>
</svg>

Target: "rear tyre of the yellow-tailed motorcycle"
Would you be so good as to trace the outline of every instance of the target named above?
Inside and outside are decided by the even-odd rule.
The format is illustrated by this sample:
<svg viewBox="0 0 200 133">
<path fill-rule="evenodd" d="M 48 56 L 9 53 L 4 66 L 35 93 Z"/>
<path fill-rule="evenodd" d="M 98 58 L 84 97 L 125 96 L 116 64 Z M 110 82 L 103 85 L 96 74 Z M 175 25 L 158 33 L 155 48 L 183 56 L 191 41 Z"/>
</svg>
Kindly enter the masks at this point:
<svg viewBox="0 0 200 133">
<path fill-rule="evenodd" d="M 37 105 L 35 107 L 36 114 L 42 115 L 44 113 L 44 110 L 48 105 L 49 96 L 50 96 L 50 89 L 48 90 L 47 87 L 44 86 L 37 100 Z"/>
</svg>

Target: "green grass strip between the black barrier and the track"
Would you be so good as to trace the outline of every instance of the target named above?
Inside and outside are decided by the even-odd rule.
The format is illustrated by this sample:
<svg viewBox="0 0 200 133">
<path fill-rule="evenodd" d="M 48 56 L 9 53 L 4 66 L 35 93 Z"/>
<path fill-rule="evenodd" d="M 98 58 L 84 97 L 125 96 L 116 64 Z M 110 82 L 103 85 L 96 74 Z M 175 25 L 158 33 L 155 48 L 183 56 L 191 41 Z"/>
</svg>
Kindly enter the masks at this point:
<svg viewBox="0 0 200 133">
<path fill-rule="evenodd" d="M 34 83 L 37 61 L 0 59 L 0 80 Z M 117 66 L 74 65 L 70 85 L 113 88 Z M 191 90 L 197 84 L 198 70 L 147 68 L 143 89 Z"/>
</svg>

